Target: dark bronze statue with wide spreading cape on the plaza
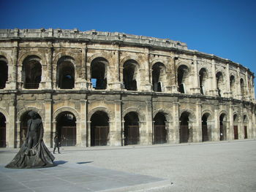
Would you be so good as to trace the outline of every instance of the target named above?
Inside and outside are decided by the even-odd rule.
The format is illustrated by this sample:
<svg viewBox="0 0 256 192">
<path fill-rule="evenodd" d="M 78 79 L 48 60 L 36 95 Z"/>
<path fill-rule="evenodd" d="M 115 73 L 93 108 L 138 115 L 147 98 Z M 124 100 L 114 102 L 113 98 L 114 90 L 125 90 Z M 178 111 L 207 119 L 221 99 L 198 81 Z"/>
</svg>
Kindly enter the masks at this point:
<svg viewBox="0 0 256 192">
<path fill-rule="evenodd" d="M 29 116 L 26 141 L 10 164 L 5 166 L 7 168 L 27 169 L 54 166 L 54 156 L 42 140 L 42 120 L 37 118 L 37 113 L 34 111 L 30 111 Z"/>
</svg>

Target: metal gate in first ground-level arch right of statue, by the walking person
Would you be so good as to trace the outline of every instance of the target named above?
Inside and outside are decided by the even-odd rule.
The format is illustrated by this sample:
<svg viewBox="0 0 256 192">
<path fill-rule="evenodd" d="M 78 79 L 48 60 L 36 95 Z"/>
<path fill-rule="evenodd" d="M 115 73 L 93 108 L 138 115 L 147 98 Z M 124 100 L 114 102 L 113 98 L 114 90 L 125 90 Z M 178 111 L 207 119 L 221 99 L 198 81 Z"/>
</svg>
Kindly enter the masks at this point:
<svg viewBox="0 0 256 192">
<path fill-rule="evenodd" d="M 76 145 L 76 127 L 61 126 L 61 146 Z"/>
</svg>

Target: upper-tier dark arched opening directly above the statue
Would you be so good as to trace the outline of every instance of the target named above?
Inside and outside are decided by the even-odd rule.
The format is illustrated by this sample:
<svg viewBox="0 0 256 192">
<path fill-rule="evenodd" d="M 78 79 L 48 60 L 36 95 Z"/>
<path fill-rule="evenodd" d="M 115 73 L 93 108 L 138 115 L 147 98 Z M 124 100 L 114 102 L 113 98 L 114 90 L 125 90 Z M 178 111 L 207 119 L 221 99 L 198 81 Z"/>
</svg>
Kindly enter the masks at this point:
<svg viewBox="0 0 256 192">
<path fill-rule="evenodd" d="M 42 77 L 41 59 L 35 55 L 27 57 L 23 61 L 23 87 L 26 89 L 37 89 Z"/>
</svg>

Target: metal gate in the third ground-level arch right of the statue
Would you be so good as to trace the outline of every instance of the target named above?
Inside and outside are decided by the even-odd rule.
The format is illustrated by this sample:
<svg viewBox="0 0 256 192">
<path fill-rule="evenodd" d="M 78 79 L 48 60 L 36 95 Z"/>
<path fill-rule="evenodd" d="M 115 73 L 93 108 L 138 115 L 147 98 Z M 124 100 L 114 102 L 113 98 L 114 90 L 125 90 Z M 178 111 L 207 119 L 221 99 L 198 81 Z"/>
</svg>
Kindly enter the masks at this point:
<svg viewBox="0 0 256 192">
<path fill-rule="evenodd" d="M 140 140 L 139 126 L 124 127 L 124 145 L 137 145 Z"/>
</svg>

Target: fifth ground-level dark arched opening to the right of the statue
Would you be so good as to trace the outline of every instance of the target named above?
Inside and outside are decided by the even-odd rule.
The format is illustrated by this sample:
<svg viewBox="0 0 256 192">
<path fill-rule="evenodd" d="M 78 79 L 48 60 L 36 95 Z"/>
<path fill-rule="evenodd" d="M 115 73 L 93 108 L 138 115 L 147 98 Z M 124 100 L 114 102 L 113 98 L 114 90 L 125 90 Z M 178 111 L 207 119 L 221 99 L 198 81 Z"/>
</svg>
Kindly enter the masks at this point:
<svg viewBox="0 0 256 192">
<path fill-rule="evenodd" d="M 189 137 L 192 137 L 190 134 L 192 134 L 192 132 L 190 133 L 189 130 L 189 112 L 183 112 L 181 114 L 181 118 L 179 118 L 180 120 L 180 128 L 179 128 L 179 140 L 180 143 L 181 142 L 190 142 Z"/>
</svg>

